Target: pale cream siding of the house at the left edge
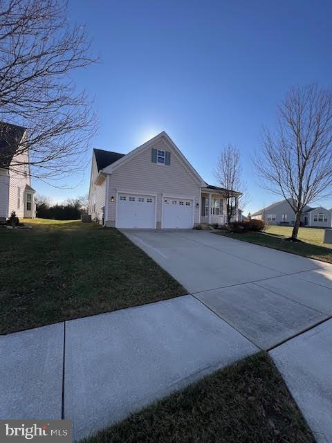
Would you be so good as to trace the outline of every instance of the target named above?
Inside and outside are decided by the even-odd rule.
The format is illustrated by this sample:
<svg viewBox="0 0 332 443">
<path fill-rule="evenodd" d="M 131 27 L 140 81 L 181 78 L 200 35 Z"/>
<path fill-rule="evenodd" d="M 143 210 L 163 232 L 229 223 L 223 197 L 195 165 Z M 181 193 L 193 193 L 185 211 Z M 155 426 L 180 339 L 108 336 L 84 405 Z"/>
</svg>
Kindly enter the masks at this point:
<svg viewBox="0 0 332 443">
<path fill-rule="evenodd" d="M 28 154 L 19 154 L 15 156 L 13 161 L 28 161 Z M 24 217 L 24 190 L 26 185 L 31 186 L 29 174 L 24 175 L 24 165 L 15 166 L 15 172 L 9 172 L 9 203 L 8 216 L 14 210 L 17 217 Z M 18 206 L 19 203 L 19 206 Z"/>
</svg>

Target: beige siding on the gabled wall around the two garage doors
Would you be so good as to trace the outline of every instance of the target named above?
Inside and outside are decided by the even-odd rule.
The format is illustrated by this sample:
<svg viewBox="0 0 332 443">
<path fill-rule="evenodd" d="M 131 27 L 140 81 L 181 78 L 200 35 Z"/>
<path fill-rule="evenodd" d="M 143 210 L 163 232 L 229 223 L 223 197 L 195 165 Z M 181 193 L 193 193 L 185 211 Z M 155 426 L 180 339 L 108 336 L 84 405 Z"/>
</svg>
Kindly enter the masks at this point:
<svg viewBox="0 0 332 443">
<path fill-rule="evenodd" d="M 157 150 L 171 152 L 171 164 L 169 166 L 151 162 L 151 149 L 153 147 Z M 134 156 L 109 176 L 109 204 L 107 205 L 109 208 L 107 216 L 109 226 L 112 226 L 116 220 L 116 192 L 119 190 L 156 194 L 157 226 L 160 226 L 161 221 L 162 195 L 167 197 L 193 197 L 194 222 L 199 223 L 199 207 L 196 207 L 196 204 L 200 202 L 200 186 L 178 158 L 173 148 L 163 139 Z M 113 202 L 110 201 L 112 196 L 114 197 Z"/>
</svg>

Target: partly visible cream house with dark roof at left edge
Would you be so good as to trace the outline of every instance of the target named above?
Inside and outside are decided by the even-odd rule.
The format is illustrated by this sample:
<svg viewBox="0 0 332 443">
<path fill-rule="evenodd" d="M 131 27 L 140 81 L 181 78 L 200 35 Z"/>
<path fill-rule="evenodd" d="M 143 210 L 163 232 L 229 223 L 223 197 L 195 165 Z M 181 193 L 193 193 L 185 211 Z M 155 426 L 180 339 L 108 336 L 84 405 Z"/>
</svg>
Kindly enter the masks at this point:
<svg viewBox="0 0 332 443">
<path fill-rule="evenodd" d="M 31 188 L 28 153 L 19 153 L 26 129 L 0 122 L 0 219 L 12 211 L 19 218 L 35 217 L 35 190 Z M 15 168 L 10 166 L 19 161 Z"/>
</svg>

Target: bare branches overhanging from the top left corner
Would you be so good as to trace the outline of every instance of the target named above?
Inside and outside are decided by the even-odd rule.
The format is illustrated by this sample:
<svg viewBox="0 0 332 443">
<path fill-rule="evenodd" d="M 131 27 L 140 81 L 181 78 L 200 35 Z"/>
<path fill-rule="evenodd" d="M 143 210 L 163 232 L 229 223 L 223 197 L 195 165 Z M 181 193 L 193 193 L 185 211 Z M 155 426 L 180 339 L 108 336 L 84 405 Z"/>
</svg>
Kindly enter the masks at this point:
<svg viewBox="0 0 332 443">
<path fill-rule="evenodd" d="M 92 103 L 70 75 L 95 60 L 84 26 L 71 25 L 64 0 L 1 0 L 1 119 L 27 129 L 10 167 L 46 181 L 84 167 L 95 132 Z"/>
</svg>

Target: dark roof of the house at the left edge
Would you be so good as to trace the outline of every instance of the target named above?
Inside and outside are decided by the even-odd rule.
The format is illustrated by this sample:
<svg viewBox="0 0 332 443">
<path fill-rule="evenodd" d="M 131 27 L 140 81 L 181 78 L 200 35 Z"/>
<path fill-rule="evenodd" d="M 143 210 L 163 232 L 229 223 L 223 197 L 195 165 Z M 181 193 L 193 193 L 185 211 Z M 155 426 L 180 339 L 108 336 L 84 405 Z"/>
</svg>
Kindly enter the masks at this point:
<svg viewBox="0 0 332 443">
<path fill-rule="evenodd" d="M 25 127 L 0 122 L 0 168 L 9 168 L 24 132 Z"/>
</svg>

